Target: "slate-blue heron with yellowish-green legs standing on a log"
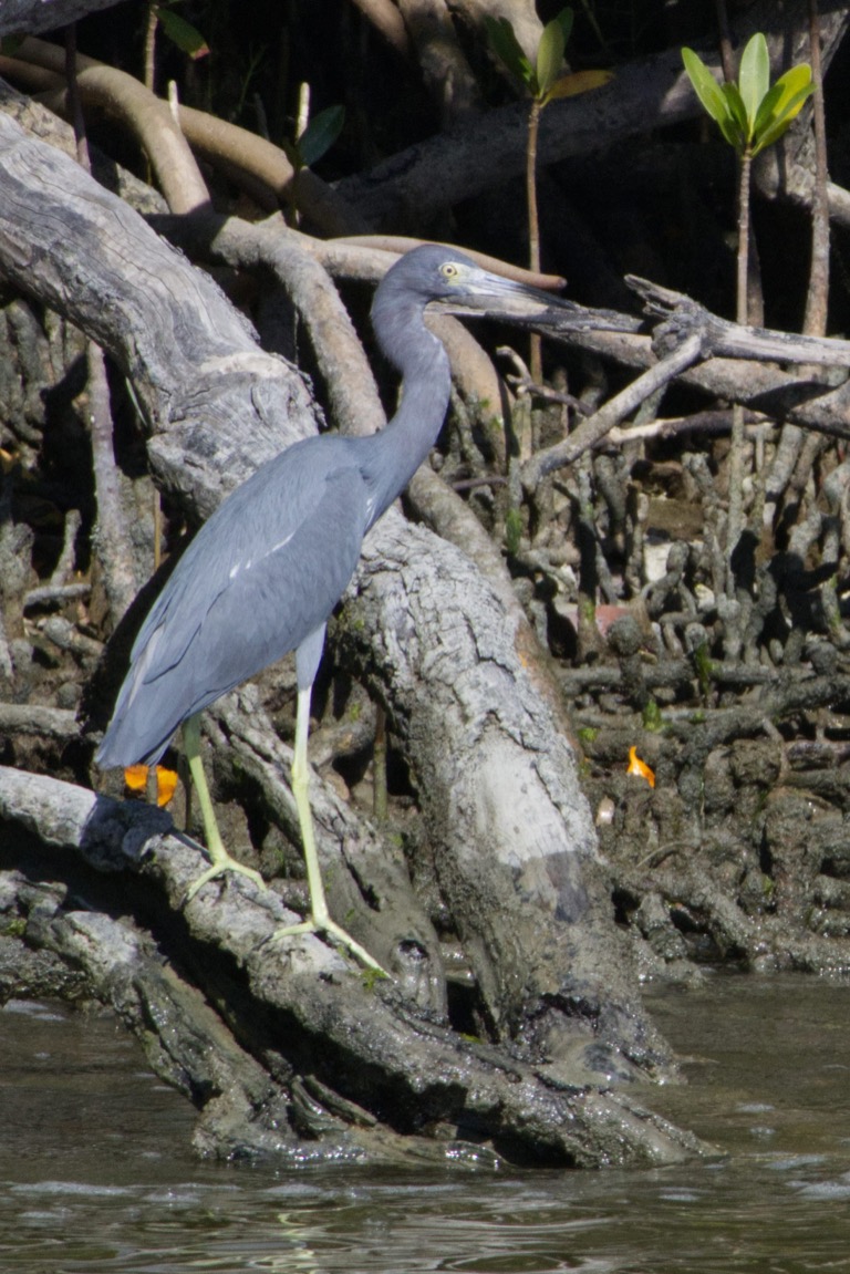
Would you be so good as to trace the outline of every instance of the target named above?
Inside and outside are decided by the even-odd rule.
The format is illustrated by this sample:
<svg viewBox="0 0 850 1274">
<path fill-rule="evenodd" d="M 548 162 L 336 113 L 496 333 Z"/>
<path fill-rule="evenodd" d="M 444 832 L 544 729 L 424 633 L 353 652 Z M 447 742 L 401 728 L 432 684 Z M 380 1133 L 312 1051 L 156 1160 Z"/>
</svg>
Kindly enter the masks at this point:
<svg viewBox="0 0 850 1274">
<path fill-rule="evenodd" d="M 200 759 L 199 713 L 289 651 L 298 701 L 292 791 L 310 889 L 308 920 L 279 933 L 317 931 L 380 968 L 328 911 L 307 791 L 310 697 L 328 618 L 357 567 L 363 536 L 407 487 L 436 442 L 450 394 L 449 358 L 424 325 L 429 301 L 545 293 L 482 270 L 452 248 L 426 245 L 387 270 L 372 304 L 377 343 L 403 377 L 401 404 L 380 433 L 322 434 L 264 464 L 204 524 L 145 619 L 112 721 L 102 767 L 153 766 L 177 727 L 212 865 L 190 897 L 224 871 L 260 875 L 232 859 L 219 834 Z"/>
</svg>

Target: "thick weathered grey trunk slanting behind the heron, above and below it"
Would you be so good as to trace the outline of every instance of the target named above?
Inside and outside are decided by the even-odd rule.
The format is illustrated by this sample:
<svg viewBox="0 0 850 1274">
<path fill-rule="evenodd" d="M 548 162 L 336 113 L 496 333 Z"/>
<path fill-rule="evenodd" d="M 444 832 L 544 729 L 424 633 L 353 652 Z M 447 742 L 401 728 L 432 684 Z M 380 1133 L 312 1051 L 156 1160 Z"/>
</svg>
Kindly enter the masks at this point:
<svg viewBox="0 0 850 1274">
<path fill-rule="evenodd" d="M 152 469 L 189 510 L 208 513 L 313 427 L 301 377 L 260 353 L 204 275 L 3 117 L 0 172 L 4 273 L 131 376 Z M 613 925 L 573 755 L 515 622 L 457 549 L 398 513 L 372 533 L 356 591 L 349 628 L 362 620 L 370 641 L 345 648 L 409 745 L 441 887 L 494 1029 L 545 1051 L 563 1082 L 664 1069 L 668 1051 Z M 372 919 L 380 929 L 380 910 Z M 315 1012 L 321 994 L 317 982 Z"/>
</svg>

